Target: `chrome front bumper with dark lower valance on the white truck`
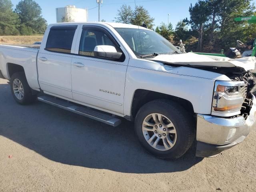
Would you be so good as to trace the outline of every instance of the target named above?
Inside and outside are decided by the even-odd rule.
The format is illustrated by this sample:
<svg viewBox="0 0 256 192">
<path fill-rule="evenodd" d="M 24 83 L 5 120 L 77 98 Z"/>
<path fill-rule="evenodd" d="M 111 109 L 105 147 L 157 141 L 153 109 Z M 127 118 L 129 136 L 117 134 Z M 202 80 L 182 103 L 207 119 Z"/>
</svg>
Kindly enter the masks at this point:
<svg viewBox="0 0 256 192">
<path fill-rule="evenodd" d="M 196 156 L 210 157 L 242 142 L 256 126 L 256 98 L 252 95 L 250 115 L 244 117 L 220 118 L 197 115 Z"/>
</svg>

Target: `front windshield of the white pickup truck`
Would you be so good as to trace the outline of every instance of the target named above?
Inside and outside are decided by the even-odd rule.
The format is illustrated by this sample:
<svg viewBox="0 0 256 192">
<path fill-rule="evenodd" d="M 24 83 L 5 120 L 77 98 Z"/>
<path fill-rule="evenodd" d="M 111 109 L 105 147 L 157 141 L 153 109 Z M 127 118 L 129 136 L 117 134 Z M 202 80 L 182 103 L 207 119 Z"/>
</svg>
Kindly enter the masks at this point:
<svg viewBox="0 0 256 192">
<path fill-rule="evenodd" d="M 151 30 L 139 28 L 115 28 L 134 54 L 141 58 L 145 55 L 156 56 L 180 51 L 164 37 Z"/>
</svg>

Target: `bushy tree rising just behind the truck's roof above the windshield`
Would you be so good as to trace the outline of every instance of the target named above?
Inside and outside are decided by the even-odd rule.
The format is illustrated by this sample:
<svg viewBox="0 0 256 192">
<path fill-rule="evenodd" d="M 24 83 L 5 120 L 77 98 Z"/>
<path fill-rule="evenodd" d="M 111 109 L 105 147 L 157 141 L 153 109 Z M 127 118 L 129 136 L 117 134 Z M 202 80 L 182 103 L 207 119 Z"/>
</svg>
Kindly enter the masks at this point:
<svg viewBox="0 0 256 192">
<path fill-rule="evenodd" d="M 148 10 L 146 10 L 143 6 L 136 6 L 135 10 L 132 13 L 131 23 L 133 25 L 142 26 L 142 24 L 146 24 L 149 29 L 153 29 L 154 26 L 154 18 L 150 16 Z"/>
</svg>

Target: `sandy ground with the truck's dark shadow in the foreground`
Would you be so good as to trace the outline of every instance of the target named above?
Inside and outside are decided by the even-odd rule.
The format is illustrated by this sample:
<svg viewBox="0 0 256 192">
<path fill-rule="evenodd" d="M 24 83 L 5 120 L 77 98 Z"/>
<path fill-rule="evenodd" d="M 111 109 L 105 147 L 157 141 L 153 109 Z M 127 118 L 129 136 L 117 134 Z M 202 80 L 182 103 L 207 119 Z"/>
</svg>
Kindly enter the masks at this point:
<svg viewBox="0 0 256 192">
<path fill-rule="evenodd" d="M 214 158 L 147 154 L 126 120 L 114 128 L 36 102 L 14 102 L 0 79 L 0 191 L 256 191 L 256 130 Z M 8 156 L 12 155 L 12 158 Z"/>
</svg>

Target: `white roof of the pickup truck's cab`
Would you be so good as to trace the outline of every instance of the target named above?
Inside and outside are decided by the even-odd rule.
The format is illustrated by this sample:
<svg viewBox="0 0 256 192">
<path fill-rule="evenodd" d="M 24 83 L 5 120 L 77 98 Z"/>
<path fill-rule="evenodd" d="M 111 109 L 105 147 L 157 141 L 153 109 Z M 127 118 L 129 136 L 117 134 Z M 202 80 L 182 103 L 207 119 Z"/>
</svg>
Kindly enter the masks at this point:
<svg viewBox="0 0 256 192">
<path fill-rule="evenodd" d="M 110 25 L 113 28 L 135 28 L 135 29 L 137 29 L 139 27 L 140 29 L 146 29 L 144 27 L 137 26 L 137 25 L 124 24 L 124 23 L 115 23 L 115 22 L 65 22 L 65 23 L 50 24 L 50 26 L 52 26 L 52 25 L 62 25 L 62 24 L 102 24 L 104 26 Z"/>
</svg>

